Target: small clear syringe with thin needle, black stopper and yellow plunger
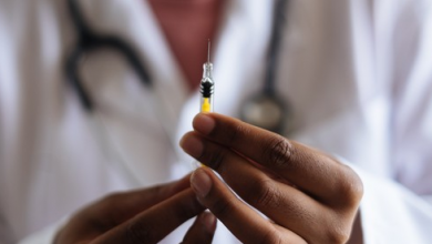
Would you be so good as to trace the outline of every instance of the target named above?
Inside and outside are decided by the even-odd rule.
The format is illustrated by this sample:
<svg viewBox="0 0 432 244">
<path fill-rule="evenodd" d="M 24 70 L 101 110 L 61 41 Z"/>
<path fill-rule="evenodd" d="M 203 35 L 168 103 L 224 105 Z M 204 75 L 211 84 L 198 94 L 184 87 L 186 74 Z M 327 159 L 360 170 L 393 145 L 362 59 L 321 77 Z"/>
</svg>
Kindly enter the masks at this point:
<svg viewBox="0 0 432 244">
<path fill-rule="evenodd" d="M 213 93 L 215 82 L 213 81 L 213 64 L 210 63 L 210 40 L 208 40 L 207 62 L 203 64 L 203 79 L 200 80 L 199 92 L 200 112 L 213 112 Z"/>
</svg>

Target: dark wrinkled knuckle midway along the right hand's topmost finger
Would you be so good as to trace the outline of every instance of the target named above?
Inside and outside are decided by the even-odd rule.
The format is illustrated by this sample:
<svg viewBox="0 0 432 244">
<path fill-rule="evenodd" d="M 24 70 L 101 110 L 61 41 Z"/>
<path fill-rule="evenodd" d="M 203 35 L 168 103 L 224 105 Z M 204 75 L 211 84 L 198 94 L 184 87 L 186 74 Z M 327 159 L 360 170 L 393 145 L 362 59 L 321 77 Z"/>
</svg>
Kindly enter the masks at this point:
<svg viewBox="0 0 432 244">
<path fill-rule="evenodd" d="M 264 159 L 276 167 L 286 167 L 291 159 L 294 146 L 282 136 L 271 139 L 264 148 Z"/>
</svg>

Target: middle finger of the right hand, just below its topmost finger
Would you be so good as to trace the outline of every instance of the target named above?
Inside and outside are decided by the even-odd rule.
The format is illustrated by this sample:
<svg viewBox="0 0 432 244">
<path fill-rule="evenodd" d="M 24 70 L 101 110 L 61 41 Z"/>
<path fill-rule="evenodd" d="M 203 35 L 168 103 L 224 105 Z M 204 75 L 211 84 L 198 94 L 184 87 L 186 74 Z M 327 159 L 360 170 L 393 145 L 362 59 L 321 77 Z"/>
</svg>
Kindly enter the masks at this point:
<svg viewBox="0 0 432 244">
<path fill-rule="evenodd" d="M 188 136 L 199 135 L 192 133 Z M 325 230 L 321 226 L 332 218 L 333 211 L 329 207 L 290 185 L 275 181 L 245 157 L 224 146 L 207 142 L 205 148 L 208 153 L 203 153 L 199 161 L 219 159 L 219 166 L 214 170 L 248 204 L 308 242 L 313 241 L 311 238 L 315 236 L 326 235 L 321 232 Z M 218 156 L 214 156 L 215 154 Z M 310 235 L 310 230 L 315 230 L 315 235 Z"/>
</svg>

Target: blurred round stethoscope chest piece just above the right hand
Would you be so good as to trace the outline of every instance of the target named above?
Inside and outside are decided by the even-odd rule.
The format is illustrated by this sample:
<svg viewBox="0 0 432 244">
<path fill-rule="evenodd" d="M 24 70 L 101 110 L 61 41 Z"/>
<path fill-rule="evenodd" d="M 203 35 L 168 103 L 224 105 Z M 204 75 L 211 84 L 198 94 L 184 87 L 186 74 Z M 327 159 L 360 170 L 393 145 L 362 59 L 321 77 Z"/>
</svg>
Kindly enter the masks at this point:
<svg viewBox="0 0 432 244">
<path fill-rule="evenodd" d="M 287 132 L 290 109 L 276 94 L 260 93 L 245 100 L 240 119 L 246 123 L 284 134 Z"/>
</svg>

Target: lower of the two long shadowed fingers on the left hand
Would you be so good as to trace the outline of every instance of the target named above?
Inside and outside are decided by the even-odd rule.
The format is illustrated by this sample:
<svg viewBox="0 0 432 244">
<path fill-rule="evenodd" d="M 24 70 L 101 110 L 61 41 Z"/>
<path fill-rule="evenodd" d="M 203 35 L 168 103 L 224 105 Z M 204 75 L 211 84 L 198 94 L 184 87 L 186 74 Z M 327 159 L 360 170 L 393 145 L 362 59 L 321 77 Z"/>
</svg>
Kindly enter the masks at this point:
<svg viewBox="0 0 432 244">
<path fill-rule="evenodd" d="M 113 228 L 95 243 L 157 243 L 203 211 L 195 193 L 188 189 Z"/>
</svg>

